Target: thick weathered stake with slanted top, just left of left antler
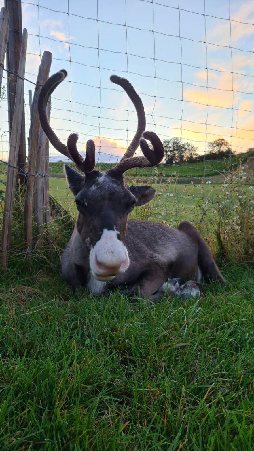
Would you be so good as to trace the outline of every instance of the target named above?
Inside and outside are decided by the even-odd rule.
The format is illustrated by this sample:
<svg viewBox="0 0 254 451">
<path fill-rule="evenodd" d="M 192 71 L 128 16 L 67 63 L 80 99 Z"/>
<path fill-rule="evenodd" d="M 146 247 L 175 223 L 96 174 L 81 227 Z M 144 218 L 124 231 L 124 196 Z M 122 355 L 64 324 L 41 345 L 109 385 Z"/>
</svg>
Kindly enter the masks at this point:
<svg viewBox="0 0 254 451">
<path fill-rule="evenodd" d="M 29 164 L 28 164 L 28 182 L 25 200 L 25 241 L 27 249 L 32 249 L 32 216 L 33 216 L 33 189 L 34 174 L 38 148 L 38 135 L 40 129 L 40 120 L 38 115 L 38 97 L 42 89 L 42 85 L 47 81 L 50 66 L 52 62 L 52 53 L 45 51 L 42 55 L 42 61 L 39 67 L 36 87 L 33 95 L 33 105 L 31 112 L 31 126 L 29 131 Z"/>
</svg>

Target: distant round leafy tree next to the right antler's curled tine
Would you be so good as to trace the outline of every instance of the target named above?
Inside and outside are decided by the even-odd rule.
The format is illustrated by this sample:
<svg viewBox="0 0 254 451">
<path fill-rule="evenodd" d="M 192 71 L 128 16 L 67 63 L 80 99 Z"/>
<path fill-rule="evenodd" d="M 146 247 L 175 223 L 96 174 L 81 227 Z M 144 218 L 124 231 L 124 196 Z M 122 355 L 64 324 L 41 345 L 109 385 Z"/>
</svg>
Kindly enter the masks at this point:
<svg viewBox="0 0 254 451">
<path fill-rule="evenodd" d="M 165 139 L 163 141 L 165 151 L 165 163 L 174 164 L 195 158 L 197 147 L 191 143 L 182 143 L 179 138 Z"/>
</svg>

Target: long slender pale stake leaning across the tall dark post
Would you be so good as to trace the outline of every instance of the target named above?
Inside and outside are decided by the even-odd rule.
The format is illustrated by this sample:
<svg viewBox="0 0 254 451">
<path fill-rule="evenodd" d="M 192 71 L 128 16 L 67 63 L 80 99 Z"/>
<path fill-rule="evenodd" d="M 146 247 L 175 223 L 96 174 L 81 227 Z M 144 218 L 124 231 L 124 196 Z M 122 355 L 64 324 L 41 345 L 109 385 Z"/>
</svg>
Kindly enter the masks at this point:
<svg viewBox="0 0 254 451">
<path fill-rule="evenodd" d="M 16 87 L 16 97 L 13 113 L 13 124 L 9 143 L 9 160 L 5 190 L 5 207 L 2 229 L 1 266 L 5 272 L 8 265 L 8 251 L 10 245 L 11 221 L 13 212 L 14 190 L 19 156 L 20 130 L 24 107 L 24 74 L 27 51 L 27 30 L 24 29 L 19 59 L 19 76 Z"/>
</svg>

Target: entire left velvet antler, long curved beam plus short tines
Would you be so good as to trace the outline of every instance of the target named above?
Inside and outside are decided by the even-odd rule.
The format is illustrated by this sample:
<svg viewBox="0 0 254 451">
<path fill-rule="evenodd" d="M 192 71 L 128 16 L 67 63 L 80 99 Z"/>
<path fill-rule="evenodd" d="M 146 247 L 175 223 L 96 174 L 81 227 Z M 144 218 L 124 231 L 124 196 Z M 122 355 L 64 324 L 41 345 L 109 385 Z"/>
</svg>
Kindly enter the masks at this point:
<svg viewBox="0 0 254 451">
<path fill-rule="evenodd" d="M 66 78 L 67 72 L 65 69 L 61 69 L 56 74 L 52 75 L 47 82 L 42 86 L 42 90 L 38 99 L 38 112 L 41 121 L 42 130 L 46 133 L 47 138 L 51 142 L 52 146 L 58 150 L 67 158 L 70 158 L 77 169 L 81 170 L 85 174 L 92 172 L 95 166 L 95 144 L 92 139 L 89 139 L 86 143 L 85 159 L 80 155 L 77 150 L 78 135 L 72 133 L 67 141 L 67 146 L 57 138 L 56 133 L 53 132 L 46 114 L 46 106 L 49 97 L 56 87 Z"/>
</svg>

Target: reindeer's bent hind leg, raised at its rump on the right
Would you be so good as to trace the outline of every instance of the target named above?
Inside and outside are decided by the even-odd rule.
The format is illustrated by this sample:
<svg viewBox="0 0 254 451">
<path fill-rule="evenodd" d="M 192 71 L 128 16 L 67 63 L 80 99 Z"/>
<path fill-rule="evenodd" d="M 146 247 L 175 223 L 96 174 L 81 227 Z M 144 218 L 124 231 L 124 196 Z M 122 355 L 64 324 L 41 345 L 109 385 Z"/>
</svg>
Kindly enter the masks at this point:
<svg viewBox="0 0 254 451">
<path fill-rule="evenodd" d="M 198 267 L 201 270 L 202 276 L 225 284 L 225 279 L 217 268 L 210 249 L 196 227 L 188 221 L 183 221 L 179 224 L 178 229 L 182 230 L 194 242 L 198 243 Z"/>
</svg>

